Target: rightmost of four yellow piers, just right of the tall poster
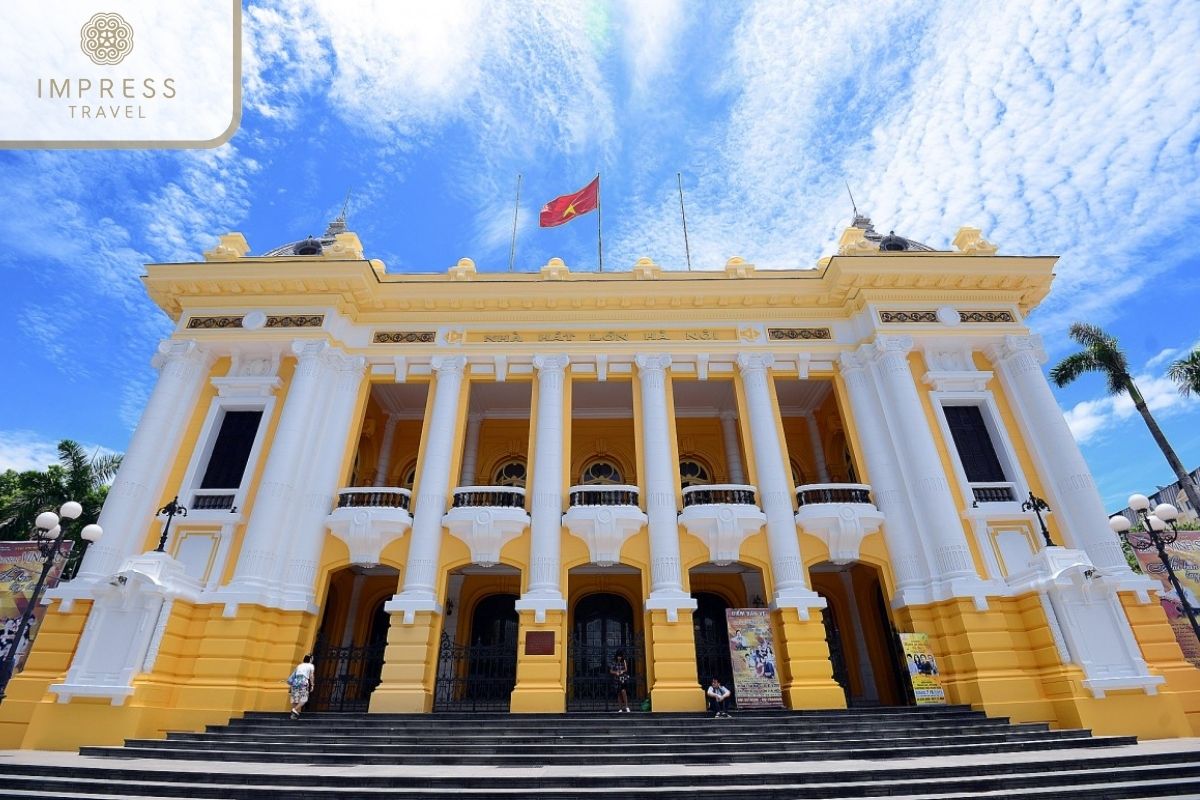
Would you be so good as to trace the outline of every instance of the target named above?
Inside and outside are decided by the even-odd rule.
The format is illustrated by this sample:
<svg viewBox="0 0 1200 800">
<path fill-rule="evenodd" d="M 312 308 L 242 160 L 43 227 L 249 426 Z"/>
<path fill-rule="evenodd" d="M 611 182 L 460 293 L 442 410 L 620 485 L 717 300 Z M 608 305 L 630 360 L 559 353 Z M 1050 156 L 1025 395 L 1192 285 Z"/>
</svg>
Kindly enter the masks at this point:
<svg viewBox="0 0 1200 800">
<path fill-rule="evenodd" d="M 800 619 L 794 608 L 782 608 L 773 616 L 779 632 L 776 662 L 784 705 L 798 709 L 844 709 L 846 694 L 833 679 L 829 644 L 820 609 Z"/>
</svg>

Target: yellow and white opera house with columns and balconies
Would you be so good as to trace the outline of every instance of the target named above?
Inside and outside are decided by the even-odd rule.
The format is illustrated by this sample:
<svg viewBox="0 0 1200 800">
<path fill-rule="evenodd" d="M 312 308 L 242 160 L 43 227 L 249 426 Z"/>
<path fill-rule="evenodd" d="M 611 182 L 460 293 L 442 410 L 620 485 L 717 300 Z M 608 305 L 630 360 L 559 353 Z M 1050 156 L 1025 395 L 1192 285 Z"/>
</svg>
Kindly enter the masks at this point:
<svg viewBox="0 0 1200 800">
<path fill-rule="evenodd" d="M 343 219 L 151 264 L 175 329 L 0 747 L 283 710 L 307 652 L 310 710 L 616 710 L 622 650 L 698 711 L 745 608 L 790 709 L 912 703 L 920 632 L 950 703 L 1200 734 L 1026 325 L 1054 265 L 863 217 L 803 270 L 388 273 Z"/>
</svg>

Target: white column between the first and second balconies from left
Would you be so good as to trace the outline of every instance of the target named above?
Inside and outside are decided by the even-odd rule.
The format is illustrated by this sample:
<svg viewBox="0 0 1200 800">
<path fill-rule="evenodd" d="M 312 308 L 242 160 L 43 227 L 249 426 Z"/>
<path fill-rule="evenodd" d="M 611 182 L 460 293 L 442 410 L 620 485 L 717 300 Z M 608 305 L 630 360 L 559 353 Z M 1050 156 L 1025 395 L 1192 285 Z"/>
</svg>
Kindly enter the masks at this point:
<svg viewBox="0 0 1200 800">
<path fill-rule="evenodd" d="M 413 541 L 408 548 L 404 588 L 388 601 L 390 613 L 404 612 L 404 624 L 412 625 L 419 610 L 440 613 L 437 602 L 437 570 L 442 554 L 442 517 L 450 491 L 450 463 L 455 447 L 455 422 L 462 397 L 464 356 L 442 356 L 432 361 L 437 375 L 433 413 L 426 420 L 430 435 L 421 457 L 421 487 L 413 515 Z"/>
</svg>

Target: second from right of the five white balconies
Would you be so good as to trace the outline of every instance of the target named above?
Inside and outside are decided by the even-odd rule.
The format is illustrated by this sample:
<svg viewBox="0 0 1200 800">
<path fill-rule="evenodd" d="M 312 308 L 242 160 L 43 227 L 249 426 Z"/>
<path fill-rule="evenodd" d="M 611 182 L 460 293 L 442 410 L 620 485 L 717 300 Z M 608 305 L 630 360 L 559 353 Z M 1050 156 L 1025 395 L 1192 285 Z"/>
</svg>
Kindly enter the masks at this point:
<svg viewBox="0 0 1200 800">
<path fill-rule="evenodd" d="M 767 524 L 756 492 L 755 487 L 740 483 L 689 486 L 683 491 L 679 523 L 708 545 L 713 564 L 737 561 L 742 542 Z"/>
</svg>

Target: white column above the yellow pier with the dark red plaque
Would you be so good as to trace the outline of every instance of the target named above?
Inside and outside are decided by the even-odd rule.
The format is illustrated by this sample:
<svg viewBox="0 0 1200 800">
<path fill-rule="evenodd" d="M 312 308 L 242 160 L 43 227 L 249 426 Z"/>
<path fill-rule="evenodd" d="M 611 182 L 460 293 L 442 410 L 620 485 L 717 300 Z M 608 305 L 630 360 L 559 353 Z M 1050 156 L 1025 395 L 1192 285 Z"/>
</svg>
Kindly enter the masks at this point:
<svg viewBox="0 0 1200 800">
<path fill-rule="evenodd" d="M 563 539 L 563 384 L 566 355 L 536 355 L 538 421 L 534 438 L 533 513 L 529 523 L 529 589 L 517 610 L 534 610 L 536 621 L 547 610 L 566 610 L 559 585 Z"/>
</svg>

